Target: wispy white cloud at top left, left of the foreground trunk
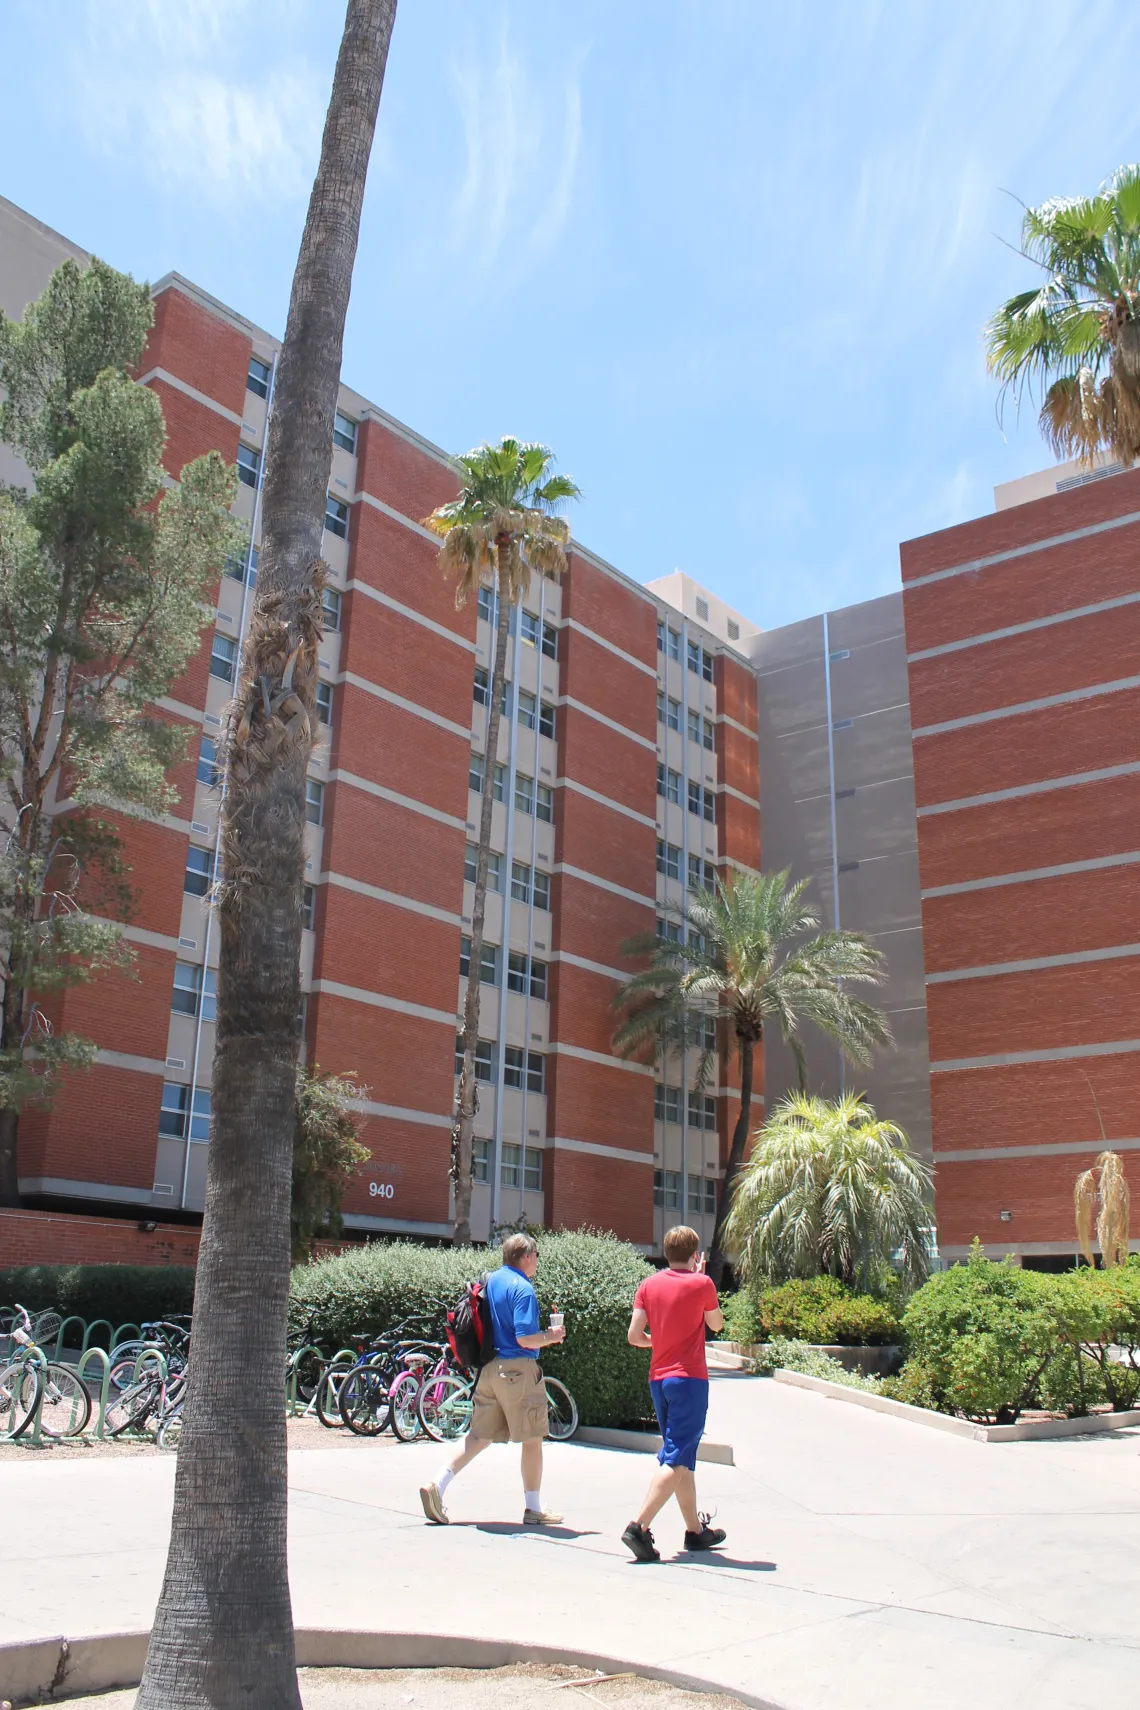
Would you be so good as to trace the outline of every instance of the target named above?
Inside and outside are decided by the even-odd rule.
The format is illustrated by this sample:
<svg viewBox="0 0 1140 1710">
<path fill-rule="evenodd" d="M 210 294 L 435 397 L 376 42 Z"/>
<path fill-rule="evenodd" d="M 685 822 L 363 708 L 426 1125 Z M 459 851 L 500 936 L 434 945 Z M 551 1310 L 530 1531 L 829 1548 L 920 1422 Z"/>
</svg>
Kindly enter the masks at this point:
<svg viewBox="0 0 1140 1710">
<path fill-rule="evenodd" d="M 68 84 L 89 144 L 197 200 L 304 195 L 325 79 L 304 60 L 243 53 L 246 21 L 251 0 L 123 0 L 111 27 L 87 0 Z"/>
</svg>

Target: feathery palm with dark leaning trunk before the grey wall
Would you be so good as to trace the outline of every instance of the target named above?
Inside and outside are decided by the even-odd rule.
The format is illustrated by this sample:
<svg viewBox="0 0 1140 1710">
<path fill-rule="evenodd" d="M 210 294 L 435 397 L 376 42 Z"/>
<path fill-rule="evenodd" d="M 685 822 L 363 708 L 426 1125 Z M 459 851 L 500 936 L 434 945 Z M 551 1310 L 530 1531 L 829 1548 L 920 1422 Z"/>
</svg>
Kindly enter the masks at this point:
<svg viewBox="0 0 1140 1710">
<path fill-rule="evenodd" d="M 708 1019 L 714 1017 L 740 1057 L 740 1117 L 709 1247 L 709 1276 L 718 1288 L 725 1272 L 725 1218 L 749 1137 L 752 1058 L 764 1024 L 773 1023 L 791 1047 L 802 1086 L 800 1028 L 805 1021 L 856 1064 L 868 1064 L 873 1047 L 892 1043 L 882 1011 L 851 997 L 843 985 L 851 980 L 879 983 L 882 954 L 858 932 L 817 932 L 819 915 L 803 899 L 810 881 L 790 884 L 788 879 L 788 869 L 755 877 L 735 874 L 718 881 L 713 891 L 690 891 L 687 905 L 673 910 L 677 940 L 646 934 L 622 946 L 627 956 L 648 954 L 651 959 L 615 999 L 626 1011 L 614 1035 L 620 1055 L 639 1055 L 649 1045 L 656 1050 L 701 1045 L 697 1082 L 702 1086 L 716 1065 L 716 1048 L 708 1043 Z"/>
</svg>

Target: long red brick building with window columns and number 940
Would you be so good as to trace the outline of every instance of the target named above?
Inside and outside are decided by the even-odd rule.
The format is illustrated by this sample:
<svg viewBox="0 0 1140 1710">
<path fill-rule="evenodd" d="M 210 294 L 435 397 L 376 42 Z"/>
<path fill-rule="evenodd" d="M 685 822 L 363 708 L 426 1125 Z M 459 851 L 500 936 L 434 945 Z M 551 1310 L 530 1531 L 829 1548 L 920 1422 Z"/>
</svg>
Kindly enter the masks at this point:
<svg viewBox="0 0 1140 1710">
<path fill-rule="evenodd" d="M 17 238 L 34 226 L 0 212 Z M 36 238 L 56 265 L 63 246 L 51 253 L 44 227 Z M 26 296 L 46 284 L 41 272 Z M 125 826 L 137 978 L 67 994 L 62 1021 L 94 1038 L 99 1058 L 50 1113 L 22 1118 L 21 1185 L 34 1207 L 166 1219 L 203 1204 L 214 758 L 256 575 L 277 342 L 178 275 L 154 296 L 138 378 L 162 398 L 166 465 L 176 475 L 210 448 L 238 462 L 234 510 L 253 554 L 220 578 L 202 650 L 162 701 L 190 732 L 179 804 L 161 824 Z M 475 1231 L 525 1214 L 655 1248 L 684 1214 L 708 1236 L 737 1115 L 732 1079 L 694 1093 L 694 1053 L 655 1096 L 653 1069 L 610 1048 L 612 999 L 632 968 L 620 942 L 653 932 L 665 901 L 732 865 L 759 869 L 755 677 L 709 629 L 574 544 L 564 581 L 535 578 L 513 621 L 509 716 L 491 771 L 491 598 L 456 610 L 420 522 L 455 491 L 441 450 L 342 388 L 299 1033 L 309 1062 L 367 1088 L 371 1159 L 345 1223 L 450 1231 L 465 869 L 491 787 Z"/>
</svg>

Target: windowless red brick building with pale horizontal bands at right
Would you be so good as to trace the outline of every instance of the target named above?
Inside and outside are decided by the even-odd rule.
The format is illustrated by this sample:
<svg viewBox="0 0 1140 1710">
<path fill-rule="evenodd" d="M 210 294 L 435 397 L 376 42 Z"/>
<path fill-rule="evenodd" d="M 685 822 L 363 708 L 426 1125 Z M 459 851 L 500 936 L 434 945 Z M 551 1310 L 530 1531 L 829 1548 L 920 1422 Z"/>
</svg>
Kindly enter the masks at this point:
<svg viewBox="0 0 1140 1710">
<path fill-rule="evenodd" d="M 902 547 L 950 1257 L 1072 1253 L 1101 1122 L 1140 1187 L 1140 472 L 1014 486 Z"/>
</svg>

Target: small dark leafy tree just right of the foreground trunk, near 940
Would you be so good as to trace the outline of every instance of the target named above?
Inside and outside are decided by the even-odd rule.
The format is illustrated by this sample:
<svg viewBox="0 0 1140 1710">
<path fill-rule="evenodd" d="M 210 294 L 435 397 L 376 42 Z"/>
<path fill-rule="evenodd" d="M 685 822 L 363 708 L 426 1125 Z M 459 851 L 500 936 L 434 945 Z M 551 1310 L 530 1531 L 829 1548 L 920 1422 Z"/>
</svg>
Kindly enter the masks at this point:
<svg viewBox="0 0 1140 1710">
<path fill-rule="evenodd" d="M 301 1264 L 313 1243 L 340 1235 L 340 1202 L 357 1168 L 373 1156 L 361 1146 L 361 1118 L 352 1101 L 364 1098 L 352 1074 L 321 1074 L 297 1067 L 297 1125 L 292 1141 L 292 1262 Z"/>
</svg>

